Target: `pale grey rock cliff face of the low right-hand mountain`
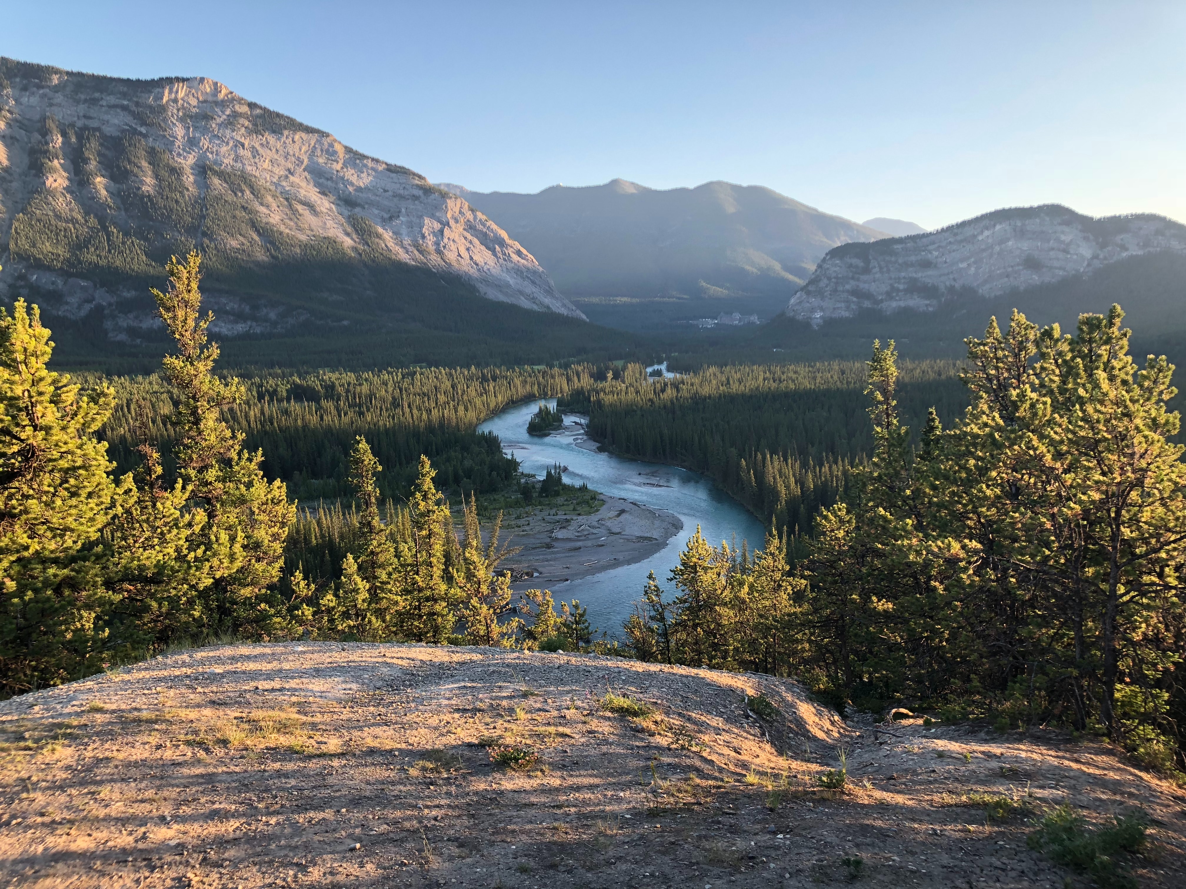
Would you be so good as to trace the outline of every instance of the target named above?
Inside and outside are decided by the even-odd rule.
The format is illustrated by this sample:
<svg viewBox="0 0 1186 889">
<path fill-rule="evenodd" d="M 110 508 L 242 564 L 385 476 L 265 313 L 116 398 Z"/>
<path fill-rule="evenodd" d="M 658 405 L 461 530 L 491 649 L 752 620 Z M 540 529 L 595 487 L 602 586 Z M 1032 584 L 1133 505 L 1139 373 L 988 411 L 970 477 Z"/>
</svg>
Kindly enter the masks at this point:
<svg viewBox="0 0 1186 889">
<path fill-rule="evenodd" d="M 1186 225 L 1153 215 L 1097 219 L 1059 205 L 997 210 L 922 235 L 837 247 L 786 314 L 820 326 L 865 309 L 933 311 L 944 300 L 1003 296 L 1158 251 L 1186 254 Z"/>
</svg>

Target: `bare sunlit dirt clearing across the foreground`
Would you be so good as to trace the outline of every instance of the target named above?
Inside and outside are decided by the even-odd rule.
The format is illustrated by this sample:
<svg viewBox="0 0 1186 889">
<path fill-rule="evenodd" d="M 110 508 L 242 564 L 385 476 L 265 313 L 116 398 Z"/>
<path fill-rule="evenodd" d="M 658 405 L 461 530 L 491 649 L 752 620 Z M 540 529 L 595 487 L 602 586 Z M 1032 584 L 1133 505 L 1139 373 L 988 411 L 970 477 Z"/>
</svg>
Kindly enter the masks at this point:
<svg viewBox="0 0 1186 889">
<path fill-rule="evenodd" d="M 655 712 L 608 712 L 607 689 Z M 759 692 L 777 718 L 747 710 Z M 0 872 L 46 889 L 1063 887 L 1020 819 L 968 804 L 982 791 L 1095 817 L 1141 805 L 1156 819 L 1141 884 L 1186 884 L 1186 793 L 1107 748 L 888 731 L 753 674 L 444 646 L 200 648 L 0 703 Z M 849 787 L 822 791 L 841 744 Z M 496 767 L 491 746 L 538 760 Z"/>
</svg>

